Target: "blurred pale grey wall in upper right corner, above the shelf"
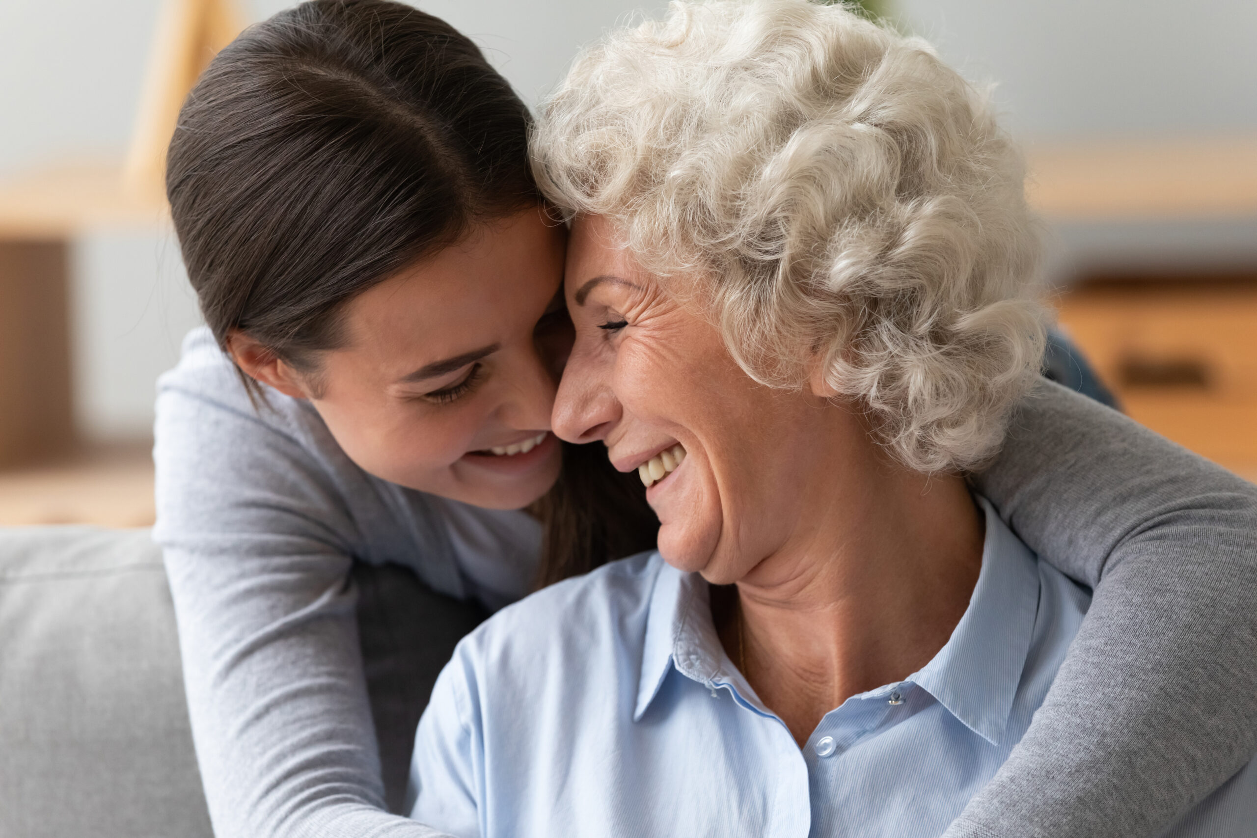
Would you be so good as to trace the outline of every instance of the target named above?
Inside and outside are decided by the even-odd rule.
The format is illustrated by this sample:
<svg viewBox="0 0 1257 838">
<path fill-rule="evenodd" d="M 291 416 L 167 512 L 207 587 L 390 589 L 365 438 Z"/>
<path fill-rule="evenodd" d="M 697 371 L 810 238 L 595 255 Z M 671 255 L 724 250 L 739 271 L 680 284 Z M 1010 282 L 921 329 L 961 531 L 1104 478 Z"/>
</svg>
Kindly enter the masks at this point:
<svg viewBox="0 0 1257 838">
<path fill-rule="evenodd" d="M 1253 0 L 894 0 L 1027 138 L 1257 129 Z"/>
</svg>

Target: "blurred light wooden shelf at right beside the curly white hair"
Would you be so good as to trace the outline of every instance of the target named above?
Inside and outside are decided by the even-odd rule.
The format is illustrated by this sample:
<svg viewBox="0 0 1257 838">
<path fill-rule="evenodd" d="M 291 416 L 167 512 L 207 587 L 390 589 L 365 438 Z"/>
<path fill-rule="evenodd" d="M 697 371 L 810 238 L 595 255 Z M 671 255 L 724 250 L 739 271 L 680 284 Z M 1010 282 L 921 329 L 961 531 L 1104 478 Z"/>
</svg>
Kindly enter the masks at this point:
<svg viewBox="0 0 1257 838">
<path fill-rule="evenodd" d="M 1257 215 L 1257 136 L 1038 146 L 1027 158 L 1027 196 L 1052 220 Z"/>
</svg>

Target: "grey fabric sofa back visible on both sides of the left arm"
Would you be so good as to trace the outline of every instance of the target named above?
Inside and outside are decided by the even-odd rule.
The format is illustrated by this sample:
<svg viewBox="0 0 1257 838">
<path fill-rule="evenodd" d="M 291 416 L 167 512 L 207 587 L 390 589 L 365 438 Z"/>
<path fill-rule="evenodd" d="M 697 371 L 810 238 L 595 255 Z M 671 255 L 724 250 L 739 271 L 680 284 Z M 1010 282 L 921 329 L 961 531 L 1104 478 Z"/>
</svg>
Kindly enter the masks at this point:
<svg viewBox="0 0 1257 838">
<path fill-rule="evenodd" d="M 356 564 L 390 807 L 454 645 L 483 619 Z M 211 835 L 161 552 L 148 530 L 0 528 L 0 837 Z"/>
</svg>

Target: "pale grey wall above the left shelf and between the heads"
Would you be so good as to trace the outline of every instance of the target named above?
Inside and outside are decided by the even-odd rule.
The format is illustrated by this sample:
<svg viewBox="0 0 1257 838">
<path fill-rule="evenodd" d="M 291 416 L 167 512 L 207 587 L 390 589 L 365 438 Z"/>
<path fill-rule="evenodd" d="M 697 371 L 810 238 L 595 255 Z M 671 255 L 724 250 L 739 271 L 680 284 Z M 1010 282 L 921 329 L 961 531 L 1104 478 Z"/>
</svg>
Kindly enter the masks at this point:
<svg viewBox="0 0 1257 838">
<path fill-rule="evenodd" d="M 253 20 L 285 0 L 241 0 Z M 417 0 L 475 36 L 534 102 L 576 48 L 651 0 Z M 161 0 L 0 1 L 0 176 L 126 148 Z"/>
</svg>

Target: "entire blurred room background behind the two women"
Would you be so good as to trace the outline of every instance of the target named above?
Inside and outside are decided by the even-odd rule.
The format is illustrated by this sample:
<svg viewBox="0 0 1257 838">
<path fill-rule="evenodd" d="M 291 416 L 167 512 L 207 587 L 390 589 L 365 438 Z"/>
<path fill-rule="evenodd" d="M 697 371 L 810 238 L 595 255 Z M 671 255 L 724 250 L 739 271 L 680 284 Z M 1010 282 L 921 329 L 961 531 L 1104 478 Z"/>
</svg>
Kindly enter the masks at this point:
<svg viewBox="0 0 1257 838">
<path fill-rule="evenodd" d="M 0 4 L 0 524 L 151 523 L 153 384 L 199 323 L 152 150 L 215 45 L 288 5 Z M 579 44 L 666 4 L 414 5 L 535 103 Z M 865 5 L 996 84 L 1061 325 L 1123 408 L 1257 477 L 1257 4 Z"/>
</svg>

